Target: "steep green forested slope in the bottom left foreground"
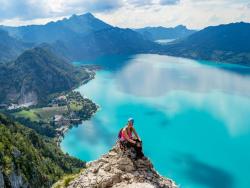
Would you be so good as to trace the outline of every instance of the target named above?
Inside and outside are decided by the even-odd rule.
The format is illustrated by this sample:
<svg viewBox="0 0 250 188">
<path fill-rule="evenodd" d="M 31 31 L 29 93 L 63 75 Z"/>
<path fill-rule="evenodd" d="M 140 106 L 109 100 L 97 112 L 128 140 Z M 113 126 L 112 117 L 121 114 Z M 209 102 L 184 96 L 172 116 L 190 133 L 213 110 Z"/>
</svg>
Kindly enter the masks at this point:
<svg viewBox="0 0 250 188">
<path fill-rule="evenodd" d="M 0 113 L 0 187 L 51 187 L 85 163 Z"/>
</svg>

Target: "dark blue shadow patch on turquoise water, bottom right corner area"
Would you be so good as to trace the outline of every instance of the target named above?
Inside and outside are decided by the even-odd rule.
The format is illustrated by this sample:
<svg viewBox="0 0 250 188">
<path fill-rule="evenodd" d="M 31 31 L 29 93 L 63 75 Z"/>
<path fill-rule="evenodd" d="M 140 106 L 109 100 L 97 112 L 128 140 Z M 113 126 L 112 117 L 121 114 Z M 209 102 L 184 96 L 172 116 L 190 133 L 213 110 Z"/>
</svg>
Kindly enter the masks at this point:
<svg viewBox="0 0 250 188">
<path fill-rule="evenodd" d="M 188 154 L 176 156 L 174 162 L 181 164 L 181 173 L 195 184 L 201 184 L 209 188 L 234 188 L 233 175 L 224 169 L 202 162 Z"/>
</svg>

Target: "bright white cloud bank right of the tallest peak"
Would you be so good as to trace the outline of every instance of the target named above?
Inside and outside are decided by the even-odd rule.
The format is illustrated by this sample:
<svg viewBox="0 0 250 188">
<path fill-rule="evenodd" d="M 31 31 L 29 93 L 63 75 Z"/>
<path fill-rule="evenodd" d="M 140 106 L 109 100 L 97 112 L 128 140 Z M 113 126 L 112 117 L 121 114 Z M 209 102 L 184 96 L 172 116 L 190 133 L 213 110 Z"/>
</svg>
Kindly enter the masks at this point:
<svg viewBox="0 0 250 188">
<path fill-rule="evenodd" d="M 250 22 L 250 8 L 246 1 L 181 0 L 172 6 L 154 4 L 150 8 L 122 7 L 112 14 L 99 13 L 107 22 L 121 27 L 176 26 L 201 29 L 209 25 L 245 21 Z"/>
</svg>

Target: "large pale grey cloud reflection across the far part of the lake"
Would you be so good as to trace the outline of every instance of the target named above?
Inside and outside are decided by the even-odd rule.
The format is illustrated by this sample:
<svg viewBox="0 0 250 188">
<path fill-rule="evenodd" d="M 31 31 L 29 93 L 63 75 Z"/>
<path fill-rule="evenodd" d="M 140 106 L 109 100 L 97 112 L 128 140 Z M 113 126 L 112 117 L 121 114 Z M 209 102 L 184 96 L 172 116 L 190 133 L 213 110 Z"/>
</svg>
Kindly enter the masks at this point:
<svg viewBox="0 0 250 188">
<path fill-rule="evenodd" d="M 242 70 L 246 72 L 246 67 Z M 141 55 L 118 72 L 116 79 L 123 92 L 139 96 L 155 97 L 175 90 L 205 93 L 217 90 L 249 97 L 250 68 L 247 70 L 249 75 L 240 75 L 192 60 Z"/>
</svg>

